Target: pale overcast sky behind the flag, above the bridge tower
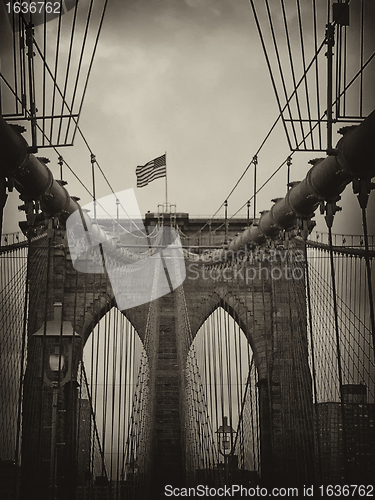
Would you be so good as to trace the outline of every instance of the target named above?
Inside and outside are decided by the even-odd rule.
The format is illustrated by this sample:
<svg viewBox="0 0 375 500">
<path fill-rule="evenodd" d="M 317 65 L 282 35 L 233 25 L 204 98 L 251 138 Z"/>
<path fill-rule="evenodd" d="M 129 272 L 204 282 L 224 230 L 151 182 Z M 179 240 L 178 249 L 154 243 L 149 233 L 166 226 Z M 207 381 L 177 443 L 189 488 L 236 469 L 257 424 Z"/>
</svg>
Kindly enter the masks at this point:
<svg viewBox="0 0 375 500">
<path fill-rule="evenodd" d="M 87 0 L 82 0 L 84 3 Z M 295 2 L 286 3 L 292 29 L 296 26 Z M 324 7 L 318 17 L 322 39 L 325 1 L 318 3 Z M 310 2 L 302 4 L 308 19 Z M 72 12 L 65 15 L 66 19 Z M 265 26 L 264 12 L 259 15 Z M 274 17 L 281 33 L 283 26 L 277 11 Z M 56 22 L 49 24 L 52 27 Z M 308 28 L 306 25 L 309 56 L 313 47 Z M 297 43 L 297 39 L 292 42 Z M 298 70 L 298 78 L 300 75 Z M 375 107 L 374 100 L 371 104 Z M 177 211 L 191 216 L 212 215 L 251 161 L 277 115 L 248 0 L 109 2 L 80 125 L 114 190 L 135 188 L 141 213 L 156 211 L 157 205 L 165 201 L 165 180 L 136 189 L 136 166 L 167 152 L 168 201 L 177 205 Z M 335 134 L 334 141 L 338 138 Z M 47 153 L 44 150 L 41 154 Z M 259 155 L 258 185 L 289 153 L 279 125 Z M 91 190 L 90 155 L 82 141 L 77 137 L 75 145 L 62 149 L 61 154 Z M 49 156 L 50 168 L 58 177 L 56 155 Z M 302 180 L 310 167 L 307 161 L 316 156 L 295 154 L 292 180 Z M 66 170 L 64 178 L 71 195 L 79 196 L 83 204 L 90 201 Z M 97 179 L 97 197 L 109 194 L 99 174 Z M 286 167 L 258 195 L 259 210 L 269 209 L 272 198 L 285 195 L 285 182 Z M 350 191 L 347 188 L 345 199 L 353 199 Z M 252 192 L 253 167 L 230 198 L 229 215 L 246 203 Z M 8 214 L 14 212 L 17 203 L 13 200 Z M 221 209 L 218 215 L 223 213 Z M 246 209 L 242 210 L 241 214 L 245 213 Z M 346 216 L 338 214 L 337 232 L 360 230 L 354 213 L 350 210 Z M 9 230 L 9 221 L 8 215 L 5 230 Z M 323 222 L 320 226 L 324 230 Z"/>
</svg>

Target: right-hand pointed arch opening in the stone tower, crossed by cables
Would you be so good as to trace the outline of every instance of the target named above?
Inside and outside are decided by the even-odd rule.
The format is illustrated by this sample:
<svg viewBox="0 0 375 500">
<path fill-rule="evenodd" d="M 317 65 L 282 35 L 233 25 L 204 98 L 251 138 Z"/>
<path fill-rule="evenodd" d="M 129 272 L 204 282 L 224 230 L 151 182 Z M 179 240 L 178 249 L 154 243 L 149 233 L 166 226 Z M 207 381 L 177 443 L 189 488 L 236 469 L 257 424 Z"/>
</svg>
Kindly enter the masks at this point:
<svg viewBox="0 0 375 500">
<path fill-rule="evenodd" d="M 235 447 L 233 452 L 238 460 L 236 463 L 242 470 L 252 470 L 255 474 L 255 470 L 259 471 L 260 463 L 259 439 L 254 448 L 251 448 L 251 445 L 255 443 L 255 435 L 259 438 L 259 413 L 256 411 L 251 425 L 246 427 L 245 431 L 242 417 L 245 404 L 246 408 L 249 408 L 249 394 L 254 404 L 252 408 L 257 410 L 259 408 L 256 388 L 257 367 L 248 337 L 235 316 L 234 308 L 222 299 L 199 327 L 187 357 L 186 398 L 194 401 L 195 394 L 200 394 L 201 400 L 204 401 L 204 410 L 199 412 L 199 416 L 206 419 L 203 422 L 207 429 L 211 430 L 214 446 L 217 445 L 218 438 L 216 429 L 224 425 L 226 419 L 225 421 L 234 430 L 233 436 L 237 436 L 231 443 Z M 248 384 L 251 389 L 248 388 Z M 194 405 L 191 404 L 191 407 Z M 194 466 L 196 469 L 204 467 L 200 464 L 210 460 L 213 463 L 224 463 L 220 452 L 215 450 L 215 455 L 212 449 L 209 448 L 207 451 L 207 446 L 202 445 L 199 440 L 194 442 L 194 429 L 199 435 L 199 429 L 195 427 L 199 419 L 194 414 L 188 413 L 188 415 L 190 420 L 189 417 L 185 417 L 187 418 L 185 429 L 187 435 L 190 434 L 190 439 L 187 438 L 187 443 L 190 445 L 187 451 L 190 455 L 187 453 L 186 457 L 189 470 L 193 470 Z M 195 443 L 193 446 L 192 442 Z M 250 464 L 250 455 L 255 448 L 257 452 L 253 465 L 256 464 L 257 468 L 247 468 L 246 464 Z"/>
</svg>

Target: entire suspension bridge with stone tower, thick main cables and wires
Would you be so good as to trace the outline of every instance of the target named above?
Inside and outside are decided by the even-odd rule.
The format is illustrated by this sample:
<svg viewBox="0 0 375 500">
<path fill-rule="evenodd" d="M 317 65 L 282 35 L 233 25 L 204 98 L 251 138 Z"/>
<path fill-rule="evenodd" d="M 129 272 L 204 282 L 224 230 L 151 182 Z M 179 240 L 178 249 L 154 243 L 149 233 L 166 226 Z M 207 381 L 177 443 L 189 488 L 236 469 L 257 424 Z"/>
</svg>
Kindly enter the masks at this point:
<svg viewBox="0 0 375 500">
<path fill-rule="evenodd" d="M 79 119 L 111 2 L 55 3 L 0 6 L 1 499 L 373 496 L 374 6 L 248 2 L 278 105 L 270 132 L 289 149 L 265 184 L 284 168 L 286 185 L 262 198 L 262 144 L 242 208 L 229 214 L 243 176 L 202 217 L 167 200 L 141 214 L 108 182 Z M 62 155 L 75 135 L 86 204 L 65 187 L 82 175 Z M 160 158 L 138 167 L 151 186 Z M 3 230 L 15 196 L 19 228 Z M 354 211 L 351 234 L 337 219 Z"/>
</svg>

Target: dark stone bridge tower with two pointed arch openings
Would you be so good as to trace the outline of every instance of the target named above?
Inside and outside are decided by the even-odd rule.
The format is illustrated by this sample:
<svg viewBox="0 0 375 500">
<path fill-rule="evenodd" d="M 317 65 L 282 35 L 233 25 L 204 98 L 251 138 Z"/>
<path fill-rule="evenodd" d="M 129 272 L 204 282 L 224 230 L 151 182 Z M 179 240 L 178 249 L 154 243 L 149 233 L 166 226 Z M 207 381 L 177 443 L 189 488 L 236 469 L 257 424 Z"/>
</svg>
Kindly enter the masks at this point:
<svg viewBox="0 0 375 500">
<path fill-rule="evenodd" d="M 146 225 L 156 222 L 156 216 L 147 215 Z M 201 221 L 177 214 L 174 222 L 186 235 L 185 243 L 195 244 L 188 238 Z M 217 226 L 222 222 L 216 221 Z M 54 224 L 54 220 L 48 221 L 47 233 L 43 230 L 44 236 L 34 239 L 30 252 L 23 500 L 48 498 L 52 469 L 59 485 L 58 498 L 74 498 L 78 365 L 93 327 L 115 305 L 105 274 L 75 271 L 65 230 Z M 227 236 L 245 225 L 243 219 L 231 221 Z M 216 237 L 223 236 L 224 230 L 216 232 Z M 212 244 L 211 233 L 206 232 L 205 237 Z M 293 250 L 294 258 L 297 250 Z M 190 346 L 182 339 L 194 339 L 218 307 L 234 317 L 254 353 L 262 482 L 313 483 L 313 401 L 307 321 L 305 312 L 301 315 L 305 311 L 304 264 L 299 251 L 300 274 L 293 279 L 290 269 L 285 271 L 285 259 L 292 253 L 286 257 L 285 249 L 267 250 L 246 262 L 234 258 L 214 265 L 186 260 L 183 285 L 151 304 L 123 312 L 141 340 L 147 325 L 153 336 L 146 348 L 151 394 L 150 498 L 163 498 L 164 486 L 172 480 L 175 486 L 184 485 L 184 366 Z M 295 307 L 297 303 L 302 307 Z M 61 354 L 64 362 L 57 368 L 61 373 L 57 381 L 53 363 Z M 55 457 L 52 447 L 57 450 Z"/>
</svg>

